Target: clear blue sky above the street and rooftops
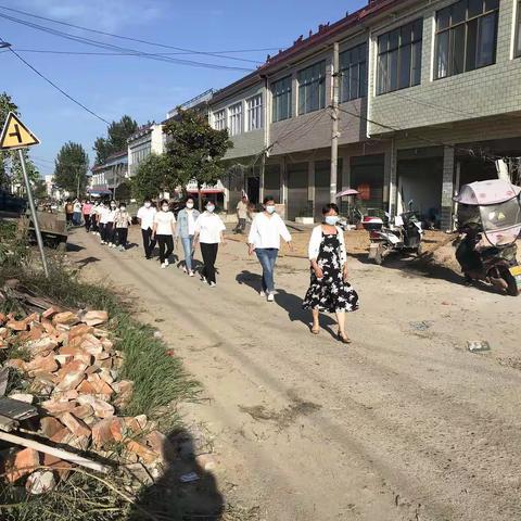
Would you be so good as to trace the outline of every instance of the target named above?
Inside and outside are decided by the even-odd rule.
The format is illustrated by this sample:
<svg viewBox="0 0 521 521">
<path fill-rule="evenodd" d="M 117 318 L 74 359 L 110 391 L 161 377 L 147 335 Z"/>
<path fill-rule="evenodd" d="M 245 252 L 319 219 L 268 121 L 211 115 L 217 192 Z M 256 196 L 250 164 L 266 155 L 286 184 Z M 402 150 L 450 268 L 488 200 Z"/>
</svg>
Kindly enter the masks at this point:
<svg viewBox="0 0 521 521">
<path fill-rule="evenodd" d="M 0 5 L 60 20 L 75 25 L 151 40 L 168 46 L 228 51 L 284 48 L 319 24 L 341 18 L 364 0 L 0 0 Z M 0 9 L 18 20 L 45 25 L 103 43 L 141 52 L 176 52 L 132 41 L 93 35 Z M 63 90 L 104 119 L 129 114 L 138 123 L 162 120 L 166 112 L 208 88 L 219 88 L 246 72 L 186 66 L 136 56 L 66 55 L 26 52 L 52 50 L 111 52 L 69 41 L 0 17 L 0 37 L 21 50 L 21 55 Z M 233 53 L 236 58 L 263 61 L 267 52 Z M 254 67 L 250 62 L 206 55 L 176 55 L 227 66 Z M 52 174 L 60 147 L 80 142 L 91 158 L 92 143 L 105 125 L 73 104 L 46 84 L 11 52 L 0 50 L 0 91 L 10 93 L 22 119 L 40 138 L 31 151 L 42 175 Z"/>
</svg>

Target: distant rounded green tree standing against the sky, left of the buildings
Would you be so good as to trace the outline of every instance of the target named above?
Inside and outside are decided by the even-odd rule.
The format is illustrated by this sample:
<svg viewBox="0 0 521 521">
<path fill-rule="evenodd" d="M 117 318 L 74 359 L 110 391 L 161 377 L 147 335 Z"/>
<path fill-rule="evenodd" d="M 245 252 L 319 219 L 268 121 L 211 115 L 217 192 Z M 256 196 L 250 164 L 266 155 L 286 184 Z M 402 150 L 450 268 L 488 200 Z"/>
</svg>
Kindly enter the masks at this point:
<svg viewBox="0 0 521 521">
<path fill-rule="evenodd" d="M 85 193 L 89 156 L 79 143 L 65 143 L 54 162 L 54 183 L 67 192 Z"/>
</svg>

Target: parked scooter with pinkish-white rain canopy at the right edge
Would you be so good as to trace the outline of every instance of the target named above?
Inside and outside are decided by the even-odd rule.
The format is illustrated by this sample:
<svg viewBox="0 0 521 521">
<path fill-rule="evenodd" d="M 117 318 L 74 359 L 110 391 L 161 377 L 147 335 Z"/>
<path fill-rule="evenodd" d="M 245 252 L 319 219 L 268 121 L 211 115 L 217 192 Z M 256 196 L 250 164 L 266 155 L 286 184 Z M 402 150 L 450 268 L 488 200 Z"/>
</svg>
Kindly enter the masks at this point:
<svg viewBox="0 0 521 521">
<path fill-rule="evenodd" d="M 516 241 L 521 188 L 503 179 L 463 185 L 455 198 L 460 237 L 456 259 L 468 283 L 484 281 L 511 296 L 521 291 Z"/>
</svg>

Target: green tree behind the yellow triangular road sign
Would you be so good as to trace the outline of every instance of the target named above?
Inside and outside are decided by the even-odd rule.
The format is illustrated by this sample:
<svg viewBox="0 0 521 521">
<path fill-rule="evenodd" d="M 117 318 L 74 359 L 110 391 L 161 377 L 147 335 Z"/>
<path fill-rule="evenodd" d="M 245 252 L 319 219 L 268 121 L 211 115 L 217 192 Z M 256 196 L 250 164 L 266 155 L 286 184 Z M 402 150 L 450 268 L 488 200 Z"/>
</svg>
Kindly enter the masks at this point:
<svg viewBox="0 0 521 521">
<path fill-rule="evenodd" d="M 18 107 L 13 102 L 11 97 L 7 92 L 2 92 L 0 94 L 0 130 L 3 128 L 10 112 L 20 116 Z M 40 179 L 38 168 L 30 161 L 27 154 L 27 149 L 23 150 L 23 154 L 25 158 L 27 176 L 29 177 L 30 181 L 37 182 Z M 24 186 L 18 152 L 16 150 L 0 151 L 0 187 L 8 188 L 13 182 Z"/>
</svg>

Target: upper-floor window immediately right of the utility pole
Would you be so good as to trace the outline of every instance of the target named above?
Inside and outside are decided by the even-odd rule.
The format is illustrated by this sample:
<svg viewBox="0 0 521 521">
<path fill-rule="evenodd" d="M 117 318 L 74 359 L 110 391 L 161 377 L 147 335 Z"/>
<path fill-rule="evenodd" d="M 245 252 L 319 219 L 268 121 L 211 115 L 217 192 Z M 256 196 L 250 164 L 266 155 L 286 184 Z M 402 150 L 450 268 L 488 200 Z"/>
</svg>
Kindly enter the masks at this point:
<svg viewBox="0 0 521 521">
<path fill-rule="evenodd" d="M 364 98 L 367 92 L 367 46 L 344 51 L 340 54 L 340 102 Z"/>
</svg>

